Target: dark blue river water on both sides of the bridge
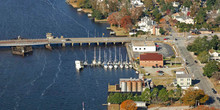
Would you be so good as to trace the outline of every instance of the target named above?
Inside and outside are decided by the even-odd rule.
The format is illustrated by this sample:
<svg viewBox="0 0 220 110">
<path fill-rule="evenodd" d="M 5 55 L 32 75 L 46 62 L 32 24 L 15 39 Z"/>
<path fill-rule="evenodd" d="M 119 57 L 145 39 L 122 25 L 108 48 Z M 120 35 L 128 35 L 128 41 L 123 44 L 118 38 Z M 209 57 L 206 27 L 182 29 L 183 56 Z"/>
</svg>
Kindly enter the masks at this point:
<svg viewBox="0 0 220 110">
<path fill-rule="evenodd" d="M 0 0 L 0 39 L 45 38 L 54 36 L 94 37 L 109 36 L 108 24 L 94 23 L 86 14 L 76 12 L 64 0 Z M 95 34 L 96 32 L 96 34 Z M 89 36 L 88 36 L 89 33 Z M 75 70 L 75 60 L 93 59 L 94 47 L 112 51 L 115 46 L 55 46 L 53 51 L 43 46 L 34 47 L 27 57 L 11 54 L 9 48 L 0 48 L 0 109 L 1 110 L 105 110 L 108 83 L 119 78 L 137 77 L 134 70 L 104 70 L 86 67 Z M 125 57 L 126 49 L 122 49 Z M 97 54 L 98 54 L 98 49 Z M 118 53 L 117 53 L 118 54 Z"/>
</svg>

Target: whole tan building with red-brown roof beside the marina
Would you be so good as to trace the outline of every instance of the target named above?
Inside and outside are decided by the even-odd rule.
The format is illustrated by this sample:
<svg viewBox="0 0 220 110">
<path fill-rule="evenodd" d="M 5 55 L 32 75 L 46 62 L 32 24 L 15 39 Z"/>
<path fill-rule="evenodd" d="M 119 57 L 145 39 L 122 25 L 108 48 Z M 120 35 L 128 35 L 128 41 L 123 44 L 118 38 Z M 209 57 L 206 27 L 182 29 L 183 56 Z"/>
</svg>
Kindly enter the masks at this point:
<svg viewBox="0 0 220 110">
<path fill-rule="evenodd" d="M 140 55 L 140 66 L 163 66 L 163 55 L 159 53 L 144 53 Z"/>
</svg>

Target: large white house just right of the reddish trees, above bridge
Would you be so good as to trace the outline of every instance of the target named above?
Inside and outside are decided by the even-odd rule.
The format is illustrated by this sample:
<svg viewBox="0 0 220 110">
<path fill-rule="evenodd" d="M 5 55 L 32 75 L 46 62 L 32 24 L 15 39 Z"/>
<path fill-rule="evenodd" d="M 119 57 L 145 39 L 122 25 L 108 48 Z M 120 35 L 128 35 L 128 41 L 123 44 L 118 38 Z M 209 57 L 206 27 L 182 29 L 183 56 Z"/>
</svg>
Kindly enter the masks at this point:
<svg viewBox="0 0 220 110">
<path fill-rule="evenodd" d="M 156 22 L 145 16 L 141 18 L 141 21 L 139 21 L 137 25 L 139 26 L 138 31 L 152 32 L 153 26 L 156 26 Z"/>
</svg>

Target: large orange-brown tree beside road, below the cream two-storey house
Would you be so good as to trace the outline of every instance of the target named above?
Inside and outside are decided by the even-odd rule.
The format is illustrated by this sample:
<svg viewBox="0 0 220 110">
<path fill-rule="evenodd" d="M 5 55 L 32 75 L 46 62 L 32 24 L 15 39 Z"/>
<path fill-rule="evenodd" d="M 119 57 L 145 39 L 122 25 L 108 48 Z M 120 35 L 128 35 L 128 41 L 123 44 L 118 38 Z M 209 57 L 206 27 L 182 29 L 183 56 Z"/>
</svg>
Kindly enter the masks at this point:
<svg viewBox="0 0 220 110">
<path fill-rule="evenodd" d="M 181 98 L 184 104 L 194 106 L 197 103 L 203 104 L 209 99 L 209 96 L 203 90 L 187 89 L 185 95 Z"/>
</svg>

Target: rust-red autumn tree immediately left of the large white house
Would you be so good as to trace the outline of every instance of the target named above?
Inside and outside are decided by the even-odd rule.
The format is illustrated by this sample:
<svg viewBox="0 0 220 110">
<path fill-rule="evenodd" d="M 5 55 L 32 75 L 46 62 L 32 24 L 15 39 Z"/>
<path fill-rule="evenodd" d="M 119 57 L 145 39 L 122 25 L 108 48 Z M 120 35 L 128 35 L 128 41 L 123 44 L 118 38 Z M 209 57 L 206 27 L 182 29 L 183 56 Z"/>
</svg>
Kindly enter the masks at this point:
<svg viewBox="0 0 220 110">
<path fill-rule="evenodd" d="M 129 30 L 132 26 L 131 16 L 124 16 L 120 21 L 120 25 L 124 29 Z"/>
</svg>

